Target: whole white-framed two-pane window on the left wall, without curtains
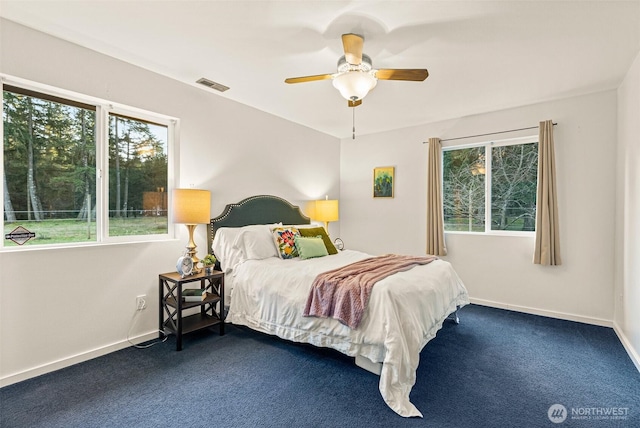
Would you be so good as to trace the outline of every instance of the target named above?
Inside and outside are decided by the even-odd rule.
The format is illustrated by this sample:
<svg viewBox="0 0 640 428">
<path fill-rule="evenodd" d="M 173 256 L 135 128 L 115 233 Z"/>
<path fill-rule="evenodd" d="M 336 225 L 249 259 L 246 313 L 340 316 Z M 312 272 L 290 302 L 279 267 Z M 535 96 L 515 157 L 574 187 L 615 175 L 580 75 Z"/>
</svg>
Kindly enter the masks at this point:
<svg viewBox="0 0 640 428">
<path fill-rule="evenodd" d="M 167 237 L 175 121 L 54 92 L 3 85 L 3 246 Z"/>
</svg>

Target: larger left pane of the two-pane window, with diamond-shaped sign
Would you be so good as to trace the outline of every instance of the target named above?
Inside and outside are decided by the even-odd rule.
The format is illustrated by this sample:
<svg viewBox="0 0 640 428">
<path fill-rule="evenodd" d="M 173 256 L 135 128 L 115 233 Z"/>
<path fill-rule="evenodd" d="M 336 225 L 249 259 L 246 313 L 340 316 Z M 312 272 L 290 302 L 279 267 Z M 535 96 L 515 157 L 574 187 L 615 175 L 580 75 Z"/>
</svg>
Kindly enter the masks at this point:
<svg viewBox="0 0 640 428">
<path fill-rule="evenodd" d="M 96 240 L 95 110 L 55 100 L 3 91 L 4 233 L 24 245 Z"/>
</svg>

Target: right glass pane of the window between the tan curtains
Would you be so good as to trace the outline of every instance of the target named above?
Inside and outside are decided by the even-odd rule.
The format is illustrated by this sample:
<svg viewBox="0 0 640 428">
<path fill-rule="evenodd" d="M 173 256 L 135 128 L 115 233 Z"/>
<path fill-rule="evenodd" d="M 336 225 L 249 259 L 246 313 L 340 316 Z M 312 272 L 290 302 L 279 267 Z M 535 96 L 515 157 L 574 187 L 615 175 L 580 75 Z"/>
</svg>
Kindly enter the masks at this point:
<svg viewBox="0 0 640 428">
<path fill-rule="evenodd" d="M 491 230 L 535 231 L 538 143 L 494 147 Z"/>
</svg>

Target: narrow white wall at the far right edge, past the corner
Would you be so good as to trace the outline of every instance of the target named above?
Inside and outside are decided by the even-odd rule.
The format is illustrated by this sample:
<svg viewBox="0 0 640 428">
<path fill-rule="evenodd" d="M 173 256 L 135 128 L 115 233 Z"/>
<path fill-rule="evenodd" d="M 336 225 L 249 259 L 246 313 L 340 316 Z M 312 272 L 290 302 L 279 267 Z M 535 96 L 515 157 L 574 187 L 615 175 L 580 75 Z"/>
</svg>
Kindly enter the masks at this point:
<svg viewBox="0 0 640 428">
<path fill-rule="evenodd" d="M 640 370 L 640 54 L 618 88 L 616 331 Z"/>
</svg>

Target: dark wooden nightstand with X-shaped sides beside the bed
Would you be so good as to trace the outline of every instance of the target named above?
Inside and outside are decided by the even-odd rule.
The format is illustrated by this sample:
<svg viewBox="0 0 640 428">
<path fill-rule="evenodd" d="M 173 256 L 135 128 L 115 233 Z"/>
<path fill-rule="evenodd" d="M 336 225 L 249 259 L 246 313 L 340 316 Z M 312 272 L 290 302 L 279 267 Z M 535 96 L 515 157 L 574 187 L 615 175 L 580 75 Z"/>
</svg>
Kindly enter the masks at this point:
<svg viewBox="0 0 640 428">
<path fill-rule="evenodd" d="M 200 284 L 206 290 L 202 301 L 183 302 L 182 291 L 185 284 Z M 197 285 L 197 284 L 191 284 Z M 160 331 L 173 333 L 176 336 L 176 350 L 182 350 L 182 335 L 203 328 L 220 326 L 220 336 L 224 335 L 224 273 L 213 271 L 207 275 L 202 272 L 185 276 L 177 272 L 163 273 L 158 276 L 160 290 Z M 183 316 L 187 309 L 198 308 L 197 313 Z M 193 312 L 193 311 L 191 311 Z M 164 333 L 160 333 L 160 337 Z"/>
</svg>

